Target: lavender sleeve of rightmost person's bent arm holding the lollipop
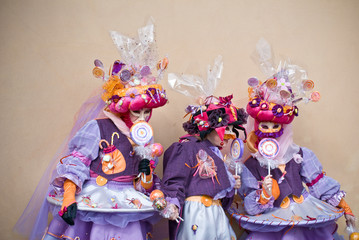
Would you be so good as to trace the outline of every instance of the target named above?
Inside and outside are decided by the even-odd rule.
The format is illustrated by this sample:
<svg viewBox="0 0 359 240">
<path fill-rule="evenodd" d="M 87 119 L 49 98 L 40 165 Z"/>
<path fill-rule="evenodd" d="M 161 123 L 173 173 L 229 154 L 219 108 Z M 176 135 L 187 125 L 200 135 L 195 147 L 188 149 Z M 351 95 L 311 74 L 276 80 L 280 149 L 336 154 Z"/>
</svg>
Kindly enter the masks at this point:
<svg viewBox="0 0 359 240">
<path fill-rule="evenodd" d="M 241 180 L 242 186 L 239 193 L 244 196 L 244 209 L 249 215 L 257 215 L 273 208 L 273 196 L 270 197 L 265 205 L 259 202 L 261 189 L 258 181 L 245 165 L 242 168 Z"/>
</svg>

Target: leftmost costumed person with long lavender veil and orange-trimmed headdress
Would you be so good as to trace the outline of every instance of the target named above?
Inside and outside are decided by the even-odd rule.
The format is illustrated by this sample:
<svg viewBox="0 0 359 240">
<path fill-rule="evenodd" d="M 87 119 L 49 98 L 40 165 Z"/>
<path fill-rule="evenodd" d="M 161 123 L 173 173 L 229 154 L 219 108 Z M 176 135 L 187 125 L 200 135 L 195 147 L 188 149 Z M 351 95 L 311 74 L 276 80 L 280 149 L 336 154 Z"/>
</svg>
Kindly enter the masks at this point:
<svg viewBox="0 0 359 240">
<path fill-rule="evenodd" d="M 45 240 L 150 239 L 151 223 L 159 218 L 149 195 L 160 186 L 153 171 L 163 148 L 154 143 L 147 122 L 152 109 L 167 102 L 157 81 L 168 60 L 157 62 L 151 23 L 139 29 L 138 39 L 117 32 L 111 36 L 121 60 L 113 63 L 109 75 L 100 60 L 93 69 L 104 81 L 104 118 L 88 121 L 57 160 L 42 206 L 53 215 Z M 44 220 L 39 216 L 36 221 Z M 31 239 L 38 239 L 41 231 L 35 226 Z"/>
</svg>

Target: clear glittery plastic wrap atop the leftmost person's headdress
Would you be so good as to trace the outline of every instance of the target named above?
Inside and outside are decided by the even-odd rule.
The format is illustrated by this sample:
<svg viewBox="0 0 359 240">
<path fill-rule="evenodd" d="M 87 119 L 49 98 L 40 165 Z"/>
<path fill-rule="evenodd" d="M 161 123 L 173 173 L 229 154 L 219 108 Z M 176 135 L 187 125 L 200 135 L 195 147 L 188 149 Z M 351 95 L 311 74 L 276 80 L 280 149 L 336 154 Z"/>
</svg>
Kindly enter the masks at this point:
<svg viewBox="0 0 359 240">
<path fill-rule="evenodd" d="M 116 31 L 110 35 L 121 55 L 121 61 L 127 65 L 148 66 L 154 69 L 158 62 L 155 27 L 151 18 L 145 27 L 138 29 L 138 36 L 131 38 Z"/>
</svg>

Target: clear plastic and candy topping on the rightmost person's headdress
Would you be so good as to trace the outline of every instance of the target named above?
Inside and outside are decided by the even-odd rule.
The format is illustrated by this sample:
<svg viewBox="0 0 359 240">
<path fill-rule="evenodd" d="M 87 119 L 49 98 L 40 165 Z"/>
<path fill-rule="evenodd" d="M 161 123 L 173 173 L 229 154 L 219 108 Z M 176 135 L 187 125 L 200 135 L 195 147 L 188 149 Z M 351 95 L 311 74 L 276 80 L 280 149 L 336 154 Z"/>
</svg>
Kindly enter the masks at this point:
<svg viewBox="0 0 359 240">
<path fill-rule="evenodd" d="M 265 39 L 258 41 L 253 58 L 267 80 L 265 84 L 253 86 L 254 78 L 250 79 L 253 96 L 261 95 L 266 101 L 290 106 L 299 102 L 319 101 L 320 94 L 312 91 L 314 82 L 308 79 L 302 67 L 292 64 L 290 60 L 280 61 L 275 67 L 270 44 Z"/>
</svg>

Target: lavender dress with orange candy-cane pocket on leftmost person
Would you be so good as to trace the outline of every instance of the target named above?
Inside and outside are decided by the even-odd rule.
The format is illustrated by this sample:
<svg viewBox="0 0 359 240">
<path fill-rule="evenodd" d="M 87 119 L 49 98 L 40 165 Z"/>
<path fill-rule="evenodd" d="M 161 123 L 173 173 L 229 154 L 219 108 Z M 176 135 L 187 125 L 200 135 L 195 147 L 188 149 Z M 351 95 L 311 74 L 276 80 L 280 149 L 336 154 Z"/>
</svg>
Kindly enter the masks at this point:
<svg viewBox="0 0 359 240">
<path fill-rule="evenodd" d="M 158 215 L 146 190 L 134 188 L 140 159 L 127 137 L 110 119 L 92 120 L 78 131 L 69 148 L 71 154 L 58 164 L 54 190 L 47 197 L 54 219 L 44 239 L 150 238 L 150 223 Z M 105 163 L 105 154 L 118 160 L 116 167 Z M 74 226 L 58 215 L 66 179 L 77 186 Z M 159 179 L 154 177 L 154 181 L 159 186 Z"/>
</svg>

